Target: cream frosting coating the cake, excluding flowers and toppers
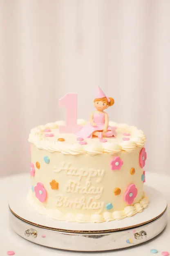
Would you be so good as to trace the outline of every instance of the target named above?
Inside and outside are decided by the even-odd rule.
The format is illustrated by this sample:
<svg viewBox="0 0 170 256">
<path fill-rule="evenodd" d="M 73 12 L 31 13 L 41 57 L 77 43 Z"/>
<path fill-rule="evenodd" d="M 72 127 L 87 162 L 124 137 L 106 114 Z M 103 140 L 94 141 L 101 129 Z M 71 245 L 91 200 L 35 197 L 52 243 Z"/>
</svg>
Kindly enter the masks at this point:
<svg viewBox="0 0 170 256">
<path fill-rule="evenodd" d="M 87 123 L 83 119 L 77 122 L 82 126 Z M 97 137 L 84 138 L 87 144 L 80 145 L 76 135 L 59 133 L 63 124 L 47 123 L 32 129 L 29 135 L 31 167 L 35 173 L 31 174 L 34 192 L 29 192 L 28 201 L 33 208 L 53 219 L 86 223 L 109 222 L 141 213 L 148 206 L 148 198 L 143 194 L 144 172 L 139 164 L 146 141 L 143 132 L 134 126 L 110 122 L 110 126 L 117 127 L 116 138 L 108 137 L 105 143 Z M 64 141 L 58 141 L 59 138 Z M 115 158 L 123 163 L 120 169 L 111 168 Z M 55 189 L 50 185 L 53 180 L 58 183 Z M 35 190 L 38 183 L 47 192 L 45 201 L 39 200 Z M 133 205 L 128 206 L 124 195 L 130 184 L 135 184 L 137 194 Z M 114 194 L 115 188 L 121 194 Z"/>
</svg>

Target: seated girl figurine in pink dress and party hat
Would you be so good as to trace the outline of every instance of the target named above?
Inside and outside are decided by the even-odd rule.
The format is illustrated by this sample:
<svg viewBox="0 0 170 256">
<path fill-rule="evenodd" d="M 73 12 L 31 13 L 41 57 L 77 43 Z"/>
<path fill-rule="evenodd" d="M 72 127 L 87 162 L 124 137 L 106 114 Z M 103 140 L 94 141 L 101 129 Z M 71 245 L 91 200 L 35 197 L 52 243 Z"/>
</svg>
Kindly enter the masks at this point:
<svg viewBox="0 0 170 256">
<path fill-rule="evenodd" d="M 89 123 L 76 134 L 78 137 L 92 138 L 97 136 L 99 139 L 103 137 L 116 137 L 116 128 L 109 126 L 109 117 L 105 109 L 114 104 L 113 98 L 105 96 L 100 87 L 97 87 L 96 98 L 94 99 L 94 107 L 96 111 L 90 116 Z"/>
</svg>

